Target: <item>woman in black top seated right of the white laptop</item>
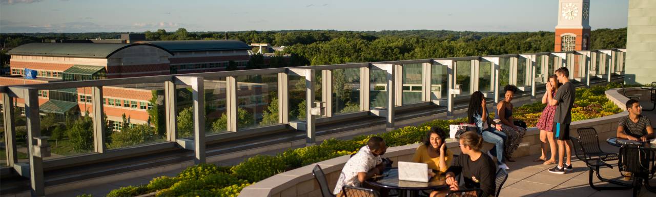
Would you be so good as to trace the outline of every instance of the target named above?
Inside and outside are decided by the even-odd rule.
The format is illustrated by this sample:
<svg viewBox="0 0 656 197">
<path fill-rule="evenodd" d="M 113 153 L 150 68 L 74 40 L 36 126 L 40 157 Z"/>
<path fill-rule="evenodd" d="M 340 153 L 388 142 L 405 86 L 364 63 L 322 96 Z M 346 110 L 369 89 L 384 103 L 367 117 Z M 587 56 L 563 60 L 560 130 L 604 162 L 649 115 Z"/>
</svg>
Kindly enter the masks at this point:
<svg viewBox="0 0 656 197">
<path fill-rule="evenodd" d="M 483 192 L 478 196 L 494 196 L 496 167 L 492 158 L 480 151 L 482 145 L 483 139 L 474 131 L 462 133 L 459 145 L 462 154 L 446 172 L 446 183 L 451 190 L 460 190 L 455 176 L 462 173 L 464 188 L 481 188 Z"/>
</svg>

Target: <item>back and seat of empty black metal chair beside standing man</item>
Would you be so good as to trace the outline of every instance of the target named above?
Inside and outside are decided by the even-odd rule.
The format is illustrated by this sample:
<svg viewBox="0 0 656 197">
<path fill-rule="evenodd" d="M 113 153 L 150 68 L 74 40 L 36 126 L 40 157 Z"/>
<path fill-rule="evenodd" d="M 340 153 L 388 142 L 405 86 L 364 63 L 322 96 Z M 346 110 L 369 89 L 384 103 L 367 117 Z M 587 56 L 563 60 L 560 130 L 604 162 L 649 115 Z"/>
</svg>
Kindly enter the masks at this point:
<svg viewBox="0 0 656 197">
<path fill-rule="evenodd" d="M 617 160 L 618 156 L 616 153 L 604 152 L 599 146 L 599 135 L 597 131 L 592 127 L 577 129 L 579 133 L 579 142 L 585 149 L 585 155 L 591 158 L 600 158 L 604 162 Z"/>
</svg>

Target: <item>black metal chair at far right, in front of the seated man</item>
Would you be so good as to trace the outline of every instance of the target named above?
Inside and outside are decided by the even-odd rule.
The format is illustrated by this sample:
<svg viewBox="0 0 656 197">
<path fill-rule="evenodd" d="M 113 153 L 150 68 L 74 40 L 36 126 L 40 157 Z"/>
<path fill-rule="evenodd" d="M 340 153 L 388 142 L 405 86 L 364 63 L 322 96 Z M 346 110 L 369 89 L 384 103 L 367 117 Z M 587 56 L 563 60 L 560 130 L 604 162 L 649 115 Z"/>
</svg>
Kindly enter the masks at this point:
<svg viewBox="0 0 656 197">
<path fill-rule="evenodd" d="M 638 196 L 642 182 L 650 192 L 656 189 L 649 185 L 656 172 L 656 152 L 640 146 L 625 145 L 619 148 L 619 161 L 617 166 L 623 177 L 633 178 L 633 196 Z"/>
</svg>

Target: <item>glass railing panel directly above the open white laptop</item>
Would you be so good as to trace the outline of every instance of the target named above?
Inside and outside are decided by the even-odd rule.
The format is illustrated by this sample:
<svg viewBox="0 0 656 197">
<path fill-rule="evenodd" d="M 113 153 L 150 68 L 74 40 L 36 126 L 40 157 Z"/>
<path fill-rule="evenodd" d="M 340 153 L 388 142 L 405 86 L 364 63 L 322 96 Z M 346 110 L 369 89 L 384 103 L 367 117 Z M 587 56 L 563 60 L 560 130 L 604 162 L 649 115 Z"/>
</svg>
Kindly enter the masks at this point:
<svg viewBox="0 0 656 197">
<path fill-rule="evenodd" d="M 422 64 L 403 65 L 401 94 L 403 104 L 422 102 Z"/>
</svg>

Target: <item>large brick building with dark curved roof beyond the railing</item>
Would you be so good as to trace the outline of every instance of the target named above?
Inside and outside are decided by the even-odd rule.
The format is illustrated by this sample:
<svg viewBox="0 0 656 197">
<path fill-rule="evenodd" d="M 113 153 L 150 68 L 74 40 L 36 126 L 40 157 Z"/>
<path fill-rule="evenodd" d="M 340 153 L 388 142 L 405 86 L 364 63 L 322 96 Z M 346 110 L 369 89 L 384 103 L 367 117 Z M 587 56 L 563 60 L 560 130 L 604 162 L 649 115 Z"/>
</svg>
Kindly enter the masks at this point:
<svg viewBox="0 0 656 197">
<path fill-rule="evenodd" d="M 0 85 L 83 81 L 121 77 L 142 77 L 168 74 L 190 74 L 225 70 L 228 64 L 243 68 L 249 61 L 251 47 L 235 40 L 211 41 L 138 41 L 136 43 L 29 43 L 9 51 L 12 76 L 0 77 Z M 36 79 L 24 79 L 24 70 L 37 71 Z M 207 82 L 206 82 L 207 83 Z M 240 83 L 241 84 L 241 83 Z M 225 105 L 224 83 L 208 83 L 216 89 L 208 100 L 216 118 Z M 220 86 L 223 85 L 221 88 Z M 261 95 L 266 84 L 244 83 L 241 97 Z M 207 87 L 207 85 L 206 85 Z M 260 92 L 257 94 L 256 92 Z M 119 129 L 125 114 L 131 123 L 147 123 L 147 110 L 153 108 L 153 95 L 163 94 L 163 85 L 126 85 L 103 87 L 104 110 L 110 122 Z M 184 93 L 181 93 L 184 95 Z M 241 99 L 247 106 L 256 99 Z M 163 97 L 154 99 L 161 104 Z M 24 111 L 22 99 L 16 106 Z M 180 102 L 184 104 L 184 102 Z M 223 103 L 223 104 L 221 104 Z M 223 106 L 223 107 L 221 107 Z M 262 108 L 249 107 L 256 116 Z M 58 89 L 39 91 L 39 110 L 42 114 L 91 112 L 91 89 Z M 260 115 L 261 117 L 261 115 Z"/>
</svg>

